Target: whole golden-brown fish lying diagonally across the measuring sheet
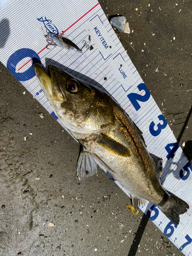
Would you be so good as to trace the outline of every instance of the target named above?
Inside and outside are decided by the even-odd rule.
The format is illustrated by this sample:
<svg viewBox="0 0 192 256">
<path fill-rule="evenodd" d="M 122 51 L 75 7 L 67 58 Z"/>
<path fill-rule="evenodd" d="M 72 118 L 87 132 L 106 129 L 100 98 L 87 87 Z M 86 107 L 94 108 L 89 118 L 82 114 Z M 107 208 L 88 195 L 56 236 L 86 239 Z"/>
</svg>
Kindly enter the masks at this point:
<svg viewBox="0 0 192 256">
<path fill-rule="evenodd" d="M 150 201 L 178 225 L 189 206 L 163 188 L 161 160 L 148 153 L 141 131 L 118 103 L 56 66 L 49 65 L 50 76 L 37 63 L 34 70 L 56 115 L 82 145 L 77 177 L 96 174 L 101 163 L 129 191 L 135 210 Z"/>
</svg>

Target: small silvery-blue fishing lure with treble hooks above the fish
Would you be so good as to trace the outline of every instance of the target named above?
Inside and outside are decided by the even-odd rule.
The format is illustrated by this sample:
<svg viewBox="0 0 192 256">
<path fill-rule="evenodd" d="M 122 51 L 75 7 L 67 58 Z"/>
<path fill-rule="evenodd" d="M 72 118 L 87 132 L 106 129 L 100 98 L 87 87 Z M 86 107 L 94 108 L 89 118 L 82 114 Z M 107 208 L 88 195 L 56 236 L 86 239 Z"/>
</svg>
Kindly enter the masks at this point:
<svg viewBox="0 0 192 256">
<path fill-rule="evenodd" d="M 47 29 L 46 29 L 47 31 Z M 77 45 L 74 44 L 74 42 L 72 42 L 70 39 L 68 39 L 65 36 L 62 35 L 58 35 L 55 33 L 51 33 L 47 31 L 47 35 L 44 35 L 47 39 L 48 45 L 46 46 L 47 49 L 48 46 L 59 46 L 63 49 L 69 49 L 69 50 L 73 50 L 73 51 L 77 51 L 77 52 L 81 52 L 84 48 L 88 48 L 89 45 L 87 44 L 87 42 L 85 40 L 83 40 L 83 47 L 80 49 Z"/>
</svg>

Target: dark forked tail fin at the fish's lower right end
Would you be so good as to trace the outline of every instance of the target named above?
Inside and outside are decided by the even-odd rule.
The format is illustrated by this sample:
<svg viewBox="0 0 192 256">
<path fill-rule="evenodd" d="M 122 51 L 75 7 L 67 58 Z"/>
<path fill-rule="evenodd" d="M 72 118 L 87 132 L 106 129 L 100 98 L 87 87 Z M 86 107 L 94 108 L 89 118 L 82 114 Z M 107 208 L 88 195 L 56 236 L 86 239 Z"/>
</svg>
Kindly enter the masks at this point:
<svg viewBox="0 0 192 256">
<path fill-rule="evenodd" d="M 166 207 L 160 207 L 163 214 L 174 224 L 179 224 L 179 215 L 184 214 L 188 208 L 189 205 L 183 201 L 182 199 L 176 197 L 176 196 L 170 196 L 170 200 L 168 202 L 169 208 Z"/>
</svg>

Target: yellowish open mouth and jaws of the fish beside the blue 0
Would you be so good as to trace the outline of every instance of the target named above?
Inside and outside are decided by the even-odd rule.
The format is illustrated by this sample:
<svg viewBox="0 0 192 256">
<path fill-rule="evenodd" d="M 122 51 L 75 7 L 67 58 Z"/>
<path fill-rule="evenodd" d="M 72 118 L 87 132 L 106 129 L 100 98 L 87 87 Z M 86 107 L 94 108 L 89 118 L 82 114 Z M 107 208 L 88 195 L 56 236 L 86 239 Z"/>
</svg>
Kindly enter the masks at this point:
<svg viewBox="0 0 192 256">
<path fill-rule="evenodd" d="M 39 63 L 33 65 L 40 87 L 47 98 L 51 101 L 63 102 L 66 100 L 65 94 L 59 84 L 66 82 L 67 77 L 61 76 L 60 70 L 54 65 L 48 65 L 48 74 Z"/>
</svg>

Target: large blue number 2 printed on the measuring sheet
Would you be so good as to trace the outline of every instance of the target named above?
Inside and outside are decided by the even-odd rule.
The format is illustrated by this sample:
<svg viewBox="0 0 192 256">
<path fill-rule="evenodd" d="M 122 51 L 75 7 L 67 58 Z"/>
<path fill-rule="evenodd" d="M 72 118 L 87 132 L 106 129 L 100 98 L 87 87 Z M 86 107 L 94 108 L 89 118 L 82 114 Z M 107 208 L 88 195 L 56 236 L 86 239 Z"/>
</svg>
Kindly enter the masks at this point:
<svg viewBox="0 0 192 256">
<path fill-rule="evenodd" d="M 130 93 L 127 95 L 127 97 L 132 102 L 136 111 L 138 111 L 141 108 L 141 106 L 139 105 L 139 103 L 137 101 L 145 102 L 150 98 L 150 95 L 151 95 L 144 83 L 140 83 L 137 88 L 139 89 L 139 91 L 144 90 L 145 95 L 140 95 L 137 93 Z"/>
</svg>

